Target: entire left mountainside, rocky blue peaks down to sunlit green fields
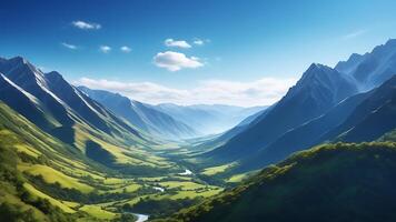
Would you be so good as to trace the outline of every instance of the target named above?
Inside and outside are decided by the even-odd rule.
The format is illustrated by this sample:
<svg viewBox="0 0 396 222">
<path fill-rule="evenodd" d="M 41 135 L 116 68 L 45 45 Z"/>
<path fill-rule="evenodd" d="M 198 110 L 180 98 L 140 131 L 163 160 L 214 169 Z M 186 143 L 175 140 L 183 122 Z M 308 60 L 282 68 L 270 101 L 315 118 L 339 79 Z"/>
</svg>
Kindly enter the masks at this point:
<svg viewBox="0 0 396 222">
<path fill-rule="evenodd" d="M 9 221 L 132 220 L 129 210 L 146 201 L 158 208 L 142 212 L 165 214 L 222 190 L 159 154 L 178 144 L 116 117 L 58 72 L 19 57 L 0 69 L 0 212 Z"/>
</svg>

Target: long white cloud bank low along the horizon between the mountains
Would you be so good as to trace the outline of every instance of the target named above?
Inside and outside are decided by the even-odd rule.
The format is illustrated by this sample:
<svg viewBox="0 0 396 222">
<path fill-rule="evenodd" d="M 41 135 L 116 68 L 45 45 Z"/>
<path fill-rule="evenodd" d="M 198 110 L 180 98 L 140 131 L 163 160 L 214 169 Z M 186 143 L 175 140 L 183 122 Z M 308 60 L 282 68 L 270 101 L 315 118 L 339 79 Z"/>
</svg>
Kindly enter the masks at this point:
<svg viewBox="0 0 396 222">
<path fill-rule="evenodd" d="M 266 105 L 277 102 L 296 79 L 263 78 L 239 82 L 206 80 L 190 89 L 175 89 L 154 82 L 120 82 L 81 78 L 75 84 L 121 93 L 130 99 L 152 104 L 171 102 L 188 104 Z"/>
</svg>

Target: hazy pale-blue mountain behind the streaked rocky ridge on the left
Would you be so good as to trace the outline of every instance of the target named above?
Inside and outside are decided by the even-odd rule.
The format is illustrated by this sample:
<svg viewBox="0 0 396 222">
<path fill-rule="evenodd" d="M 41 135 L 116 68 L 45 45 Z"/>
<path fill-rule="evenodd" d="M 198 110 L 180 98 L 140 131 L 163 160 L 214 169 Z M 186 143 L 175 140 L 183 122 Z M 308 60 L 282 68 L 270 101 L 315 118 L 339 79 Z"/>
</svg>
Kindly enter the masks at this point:
<svg viewBox="0 0 396 222">
<path fill-rule="evenodd" d="M 152 109 L 151 105 L 103 90 L 91 90 L 86 87 L 78 87 L 78 89 L 118 117 L 122 117 L 132 125 L 154 135 L 167 139 L 186 139 L 199 135 L 187 124 Z"/>
</svg>

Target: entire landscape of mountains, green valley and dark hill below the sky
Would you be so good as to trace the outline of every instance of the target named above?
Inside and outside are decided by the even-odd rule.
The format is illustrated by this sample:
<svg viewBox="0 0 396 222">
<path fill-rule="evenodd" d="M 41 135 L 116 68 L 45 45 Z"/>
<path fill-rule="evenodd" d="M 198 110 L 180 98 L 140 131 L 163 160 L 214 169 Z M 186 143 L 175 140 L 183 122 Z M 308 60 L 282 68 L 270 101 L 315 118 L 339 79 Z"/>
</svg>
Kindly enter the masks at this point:
<svg viewBox="0 0 396 222">
<path fill-rule="evenodd" d="M 395 74 L 389 40 L 269 107 L 147 104 L 0 58 L 0 216 L 394 221 Z"/>
</svg>

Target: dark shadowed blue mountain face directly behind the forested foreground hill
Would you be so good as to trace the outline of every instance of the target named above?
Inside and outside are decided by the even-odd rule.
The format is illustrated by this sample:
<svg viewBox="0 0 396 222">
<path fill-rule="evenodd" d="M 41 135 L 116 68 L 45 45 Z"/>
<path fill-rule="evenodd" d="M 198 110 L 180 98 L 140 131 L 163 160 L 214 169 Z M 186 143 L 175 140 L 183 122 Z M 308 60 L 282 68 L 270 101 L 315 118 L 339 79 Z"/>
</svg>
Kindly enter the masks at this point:
<svg viewBox="0 0 396 222">
<path fill-rule="evenodd" d="M 396 77 L 380 87 L 353 95 L 328 112 L 296 129 L 253 157 L 239 169 L 258 169 L 290 153 L 325 141 L 369 142 L 396 128 Z"/>
</svg>

